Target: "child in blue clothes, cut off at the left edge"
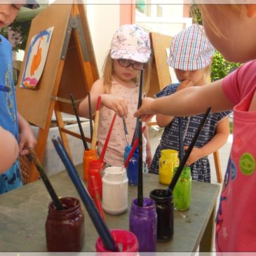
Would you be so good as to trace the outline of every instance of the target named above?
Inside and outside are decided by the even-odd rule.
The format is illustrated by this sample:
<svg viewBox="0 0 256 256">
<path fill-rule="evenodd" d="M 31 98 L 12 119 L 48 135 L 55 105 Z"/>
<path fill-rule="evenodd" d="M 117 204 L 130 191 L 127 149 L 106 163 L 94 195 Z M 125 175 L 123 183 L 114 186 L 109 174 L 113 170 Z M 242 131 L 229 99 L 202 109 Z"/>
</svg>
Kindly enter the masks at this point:
<svg viewBox="0 0 256 256">
<path fill-rule="evenodd" d="M 0 4 L 0 29 L 13 22 L 22 6 L 22 4 Z M 34 5 L 30 4 L 26 7 L 33 8 Z M 14 137 L 19 142 L 21 156 L 29 153 L 24 146 L 34 147 L 36 139 L 29 123 L 17 112 L 11 43 L 1 35 L 0 60 L 0 85 L 3 88 L 0 90 L 0 138 L 3 139 L 4 137 L 4 140 L 1 140 L 1 147 L 6 148 L 6 158 L 1 154 L 0 165 L 1 171 L 6 170 L 0 175 L 0 194 L 3 194 L 22 186 L 20 163 L 17 159 L 17 144 L 13 140 Z M 8 138 L 9 141 L 6 142 Z M 8 156 L 7 150 L 13 151 L 13 153 Z"/>
</svg>

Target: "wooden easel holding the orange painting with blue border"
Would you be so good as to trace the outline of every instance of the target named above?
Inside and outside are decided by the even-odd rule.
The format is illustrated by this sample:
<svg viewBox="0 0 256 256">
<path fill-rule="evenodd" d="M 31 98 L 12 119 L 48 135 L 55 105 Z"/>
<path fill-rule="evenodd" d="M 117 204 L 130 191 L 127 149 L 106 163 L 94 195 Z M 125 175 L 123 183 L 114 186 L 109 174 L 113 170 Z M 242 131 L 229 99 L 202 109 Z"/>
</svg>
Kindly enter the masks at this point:
<svg viewBox="0 0 256 256">
<path fill-rule="evenodd" d="M 40 161 L 43 160 L 53 112 L 62 142 L 71 156 L 67 133 L 80 139 L 81 135 L 65 129 L 62 112 L 74 114 L 69 95 L 71 93 L 74 95 L 77 104 L 86 97 L 93 82 L 99 78 L 84 6 L 81 4 L 48 6 L 32 20 L 28 42 L 31 41 L 32 36 L 52 26 L 53 36 L 39 81 L 39 89 L 29 90 L 20 87 L 17 89 L 18 111 L 29 123 L 39 126 L 35 151 Z M 29 43 L 25 50 L 25 60 L 28 47 Z M 25 68 L 25 60 L 21 74 Z M 86 140 L 90 142 L 88 138 Z M 32 165 L 28 182 L 38 179 L 39 173 Z"/>
</svg>

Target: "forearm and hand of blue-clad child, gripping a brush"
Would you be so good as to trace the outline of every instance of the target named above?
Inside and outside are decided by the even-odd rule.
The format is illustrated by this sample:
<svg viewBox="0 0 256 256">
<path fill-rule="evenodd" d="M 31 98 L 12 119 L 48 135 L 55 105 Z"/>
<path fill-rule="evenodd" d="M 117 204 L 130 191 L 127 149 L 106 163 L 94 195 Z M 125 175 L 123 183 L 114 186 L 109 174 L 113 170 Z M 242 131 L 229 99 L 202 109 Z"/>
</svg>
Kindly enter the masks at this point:
<svg viewBox="0 0 256 256">
<path fill-rule="evenodd" d="M 32 132 L 29 123 L 18 113 L 18 125 L 19 125 L 19 133 L 20 133 L 20 144 L 19 151 L 20 155 L 29 154 L 29 150 L 26 147 L 32 147 L 36 145 L 36 138 L 34 137 L 34 133 Z"/>
</svg>

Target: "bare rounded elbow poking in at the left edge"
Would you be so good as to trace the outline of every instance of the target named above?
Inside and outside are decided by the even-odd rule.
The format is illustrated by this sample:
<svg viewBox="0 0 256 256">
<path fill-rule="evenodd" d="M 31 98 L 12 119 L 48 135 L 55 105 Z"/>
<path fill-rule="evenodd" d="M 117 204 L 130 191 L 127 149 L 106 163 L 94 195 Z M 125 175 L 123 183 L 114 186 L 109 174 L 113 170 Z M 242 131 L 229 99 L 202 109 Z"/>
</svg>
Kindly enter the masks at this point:
<svg viewBox="0 0 256 256">
<path fill-rule="evenodd" d="M 4 173 L 8 168 L 11 168 L 14 161 L 18 158 L 19 147 L 15 137 L 1 126 L 0 142 L 2 145 L 2 147 L 0 147 L 0 173 Z"/>
</svg>

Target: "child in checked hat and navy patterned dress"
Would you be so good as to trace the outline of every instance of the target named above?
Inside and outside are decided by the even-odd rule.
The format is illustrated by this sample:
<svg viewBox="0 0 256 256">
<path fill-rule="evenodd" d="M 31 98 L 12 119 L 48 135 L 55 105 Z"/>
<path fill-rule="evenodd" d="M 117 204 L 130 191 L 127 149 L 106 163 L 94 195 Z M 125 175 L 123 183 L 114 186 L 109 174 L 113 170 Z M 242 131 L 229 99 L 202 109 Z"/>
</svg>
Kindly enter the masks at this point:
<svg viewBox="0 0 256 256">
<path fill-rule="evenodd" d="M 180 84 L 166 86 L 156 97 L 171 95 L 187 86 L 204 86 L 210 73 L 210 62 L 215 49 L 203 35 L 203 27 L 191 25 L 177 34 L 170 44 L 170 56 L 167 60 L 173 67 Z M 191 177 L 200 182 L 210 182 L 210 163 L 208 154 L 222 147 L 229 137 L 230 112 L 212 113 L 203 126 L 194 149 L 191 151 L 187 166 L 191 168 Z M 182 117 L 182 137 L 184 149 L 191 143 L 198 123 L 203 115 Z M 161 149 L 179 149 L 179 119 L 174 116 L 156 115 L 160 127 L 165 127 L 161 142 L 156 148 L 149 173 L 159 173 Z"/>
</svg>

